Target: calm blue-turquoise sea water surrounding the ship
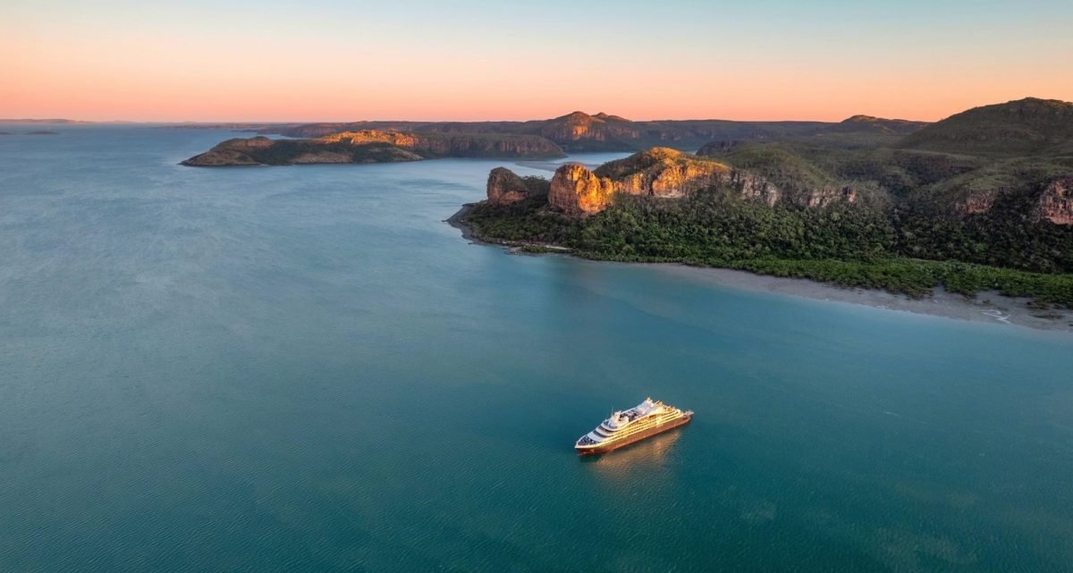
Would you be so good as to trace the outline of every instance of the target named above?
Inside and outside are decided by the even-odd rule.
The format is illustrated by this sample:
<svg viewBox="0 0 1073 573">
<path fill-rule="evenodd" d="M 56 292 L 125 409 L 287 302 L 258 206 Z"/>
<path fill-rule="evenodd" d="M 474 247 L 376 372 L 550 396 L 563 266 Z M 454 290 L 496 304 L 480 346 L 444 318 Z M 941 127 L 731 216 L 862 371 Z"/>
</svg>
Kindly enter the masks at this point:
<svg viewBox="0 0 1073 573">
<path fill-rule="evenodd" d="M 1073 571 L 1073 336 L 470 245 L 502 162 L 60 131 L 0 137 L 4 573 Z"/>
</svg>

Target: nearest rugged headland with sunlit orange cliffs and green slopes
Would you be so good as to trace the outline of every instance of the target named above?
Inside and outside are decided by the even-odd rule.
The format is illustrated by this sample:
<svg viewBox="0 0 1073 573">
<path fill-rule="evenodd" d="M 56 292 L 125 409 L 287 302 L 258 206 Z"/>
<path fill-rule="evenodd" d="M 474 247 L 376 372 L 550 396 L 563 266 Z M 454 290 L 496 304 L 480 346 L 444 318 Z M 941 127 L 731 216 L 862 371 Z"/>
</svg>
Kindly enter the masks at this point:
<svg viewBox="0 0 1073 573">
<path fill-rule="evenodd" d="M 838 124 L 655 147 L 550 180 L 494 170 L 456 217 L 529 252 L 676 262 L 927 296 L 997 290 L 1073 308 L 1073 104 L 934 124 Z"/>
</svg>

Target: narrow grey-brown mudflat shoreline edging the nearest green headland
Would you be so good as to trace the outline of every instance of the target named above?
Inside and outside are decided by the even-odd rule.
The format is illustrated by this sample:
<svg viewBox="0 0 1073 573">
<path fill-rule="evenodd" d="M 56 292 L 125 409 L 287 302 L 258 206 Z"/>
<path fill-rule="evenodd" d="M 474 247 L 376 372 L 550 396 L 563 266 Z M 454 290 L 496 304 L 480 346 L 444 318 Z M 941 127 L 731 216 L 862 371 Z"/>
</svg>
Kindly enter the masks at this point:
<svg viewBox="0 0 1073 573">
<path fill-rule="evenodd" d="M 563 247 L 549 249 L 548 252 L 523 251 L 520 246 L 481 240 L 473 235 L 462 219 L 473 208 L 475 203 L 462 205 L 457 212 L 444 220 L 451 226 L 461 232 L 462 238 L 474 245 L 499 247 L 509 254 L 558 254 L 575 256 Z M 547 246 L 540 246 L 547 248 Z M 562 250 L 559 250 L 562 249 Z M 580 258 L 584 259 L 584 258 Z M 586 259 L 588 260 L 588 259 Z M 741 291 L 762 292 L 810 298 L 813 300 L 833 300 L 882 308 L 914 314 L 927 314 L 946 319 L 984 322 L 991 324 L 1012 324 L 1039 330 L 1073 333 L 1073 310 L 1049 309 L 1039 310 L 1028 306 L 1030 298 L 1015 298 L 995 291 L 984 291 L 973 298 L 957 293 L 947 292 L 942 286 L 932 291 L 926 298 L 911 298 L 903 294 L 880 290 L 844 288 L 809 279 L 775 277 L 758 275 L 748 270 L 732 268 L 699 267 L 684 263 L 623 263 L 614 261 L 596 261 L 608 264 L 658 267 L 664 271 L 692 280 L 703 280 L 717 286 L 727 286 Z M 1049 317 L 1048 317 L 1049 315 Z"/>
</svg>

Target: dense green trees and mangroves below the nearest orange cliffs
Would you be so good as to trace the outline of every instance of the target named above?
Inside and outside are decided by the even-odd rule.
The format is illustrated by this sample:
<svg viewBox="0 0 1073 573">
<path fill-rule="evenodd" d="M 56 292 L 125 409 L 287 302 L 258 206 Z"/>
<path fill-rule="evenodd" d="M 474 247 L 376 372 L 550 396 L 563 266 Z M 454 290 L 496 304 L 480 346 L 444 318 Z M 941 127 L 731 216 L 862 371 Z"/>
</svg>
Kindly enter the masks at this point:
<svg viewBox="0 0 1073 573">
<path fill-rule="evenodd" d="M 1073 307 L 1073 229 L 1002 212 L 768 207 L 714 189 L 678 201 L 618 195 L 587 219 L 552 212 L 540 200 L 482 203 L 466 222 L 483 240 L 559 245 L 597 260 L 735 268 L 914 297 L 938 285 L 969 296 L 997 290 Z"/>
</svg>

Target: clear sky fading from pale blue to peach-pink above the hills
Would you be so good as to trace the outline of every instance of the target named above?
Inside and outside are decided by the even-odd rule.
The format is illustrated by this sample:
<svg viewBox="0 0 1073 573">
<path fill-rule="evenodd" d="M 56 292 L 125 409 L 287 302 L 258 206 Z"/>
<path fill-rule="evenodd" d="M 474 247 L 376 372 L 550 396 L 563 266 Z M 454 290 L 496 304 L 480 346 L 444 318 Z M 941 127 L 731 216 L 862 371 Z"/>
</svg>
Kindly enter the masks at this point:
<svg viewBox="0 0 1073 573">
<path fill-rule="evenodd" d="M 937 120 L 1073 101 L 1073 1 L 0 2 L 0 118 Z"/>
</svg>

